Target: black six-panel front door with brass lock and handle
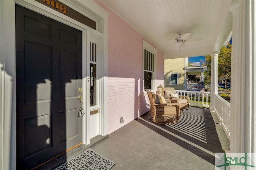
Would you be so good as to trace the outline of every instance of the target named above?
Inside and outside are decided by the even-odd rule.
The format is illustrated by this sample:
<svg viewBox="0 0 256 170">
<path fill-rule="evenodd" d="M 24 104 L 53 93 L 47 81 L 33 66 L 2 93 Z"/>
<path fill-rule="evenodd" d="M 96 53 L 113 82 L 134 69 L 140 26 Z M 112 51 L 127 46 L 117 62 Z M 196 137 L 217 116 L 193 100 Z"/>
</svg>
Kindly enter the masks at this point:
<svg viewBox="0 0 256 170">
<path fill-rule="evenodd" d="M 17 169 L 82 142 L 82 32 L 16 5 Z"/>
</svg>

